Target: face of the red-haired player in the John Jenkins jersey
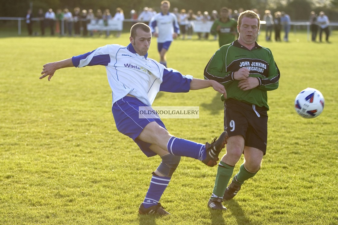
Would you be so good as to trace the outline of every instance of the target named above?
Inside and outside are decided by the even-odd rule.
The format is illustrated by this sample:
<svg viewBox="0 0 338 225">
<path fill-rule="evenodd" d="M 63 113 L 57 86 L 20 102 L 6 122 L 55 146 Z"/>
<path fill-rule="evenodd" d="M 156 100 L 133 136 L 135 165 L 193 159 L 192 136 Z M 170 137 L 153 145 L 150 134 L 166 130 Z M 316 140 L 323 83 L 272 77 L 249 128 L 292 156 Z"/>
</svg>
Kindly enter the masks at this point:
<svg viewBox="0 0 338 225">
<path fill-rule="evenodd" d="M 255 43 L 258 34 L 258 20 L 256 18 L 243 17 L 241 26 L 237 26 L 240 42 L 245 45 Z"/>
</svg>

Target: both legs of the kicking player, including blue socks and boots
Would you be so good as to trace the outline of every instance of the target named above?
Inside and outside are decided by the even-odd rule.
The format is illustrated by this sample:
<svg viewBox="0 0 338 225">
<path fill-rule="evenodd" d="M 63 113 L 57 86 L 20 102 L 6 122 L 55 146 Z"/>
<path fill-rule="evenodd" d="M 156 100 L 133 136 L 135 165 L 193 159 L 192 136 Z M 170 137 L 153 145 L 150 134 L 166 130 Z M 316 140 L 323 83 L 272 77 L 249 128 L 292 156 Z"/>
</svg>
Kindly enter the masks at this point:
<svg viewBox="0 0 338 225">
<path fill-rule="evenodd" d="M 208 166 L 214 166 L 217 164 L 220 150 L 224 148 L 226 138 L 227 133 L 223 132 L 211 144 L 203 145 L 173 137 L 156 122 L 148 123 L 138 139 L 151 143 L 149 148 L 162 158 L 162 162 L 152 173 L 149 189 L 139 207 L 139 214 L 170 215 L 162 207 L 160 199 L 179 164 L 180 156 L 195 158 Z"/>
</svg>

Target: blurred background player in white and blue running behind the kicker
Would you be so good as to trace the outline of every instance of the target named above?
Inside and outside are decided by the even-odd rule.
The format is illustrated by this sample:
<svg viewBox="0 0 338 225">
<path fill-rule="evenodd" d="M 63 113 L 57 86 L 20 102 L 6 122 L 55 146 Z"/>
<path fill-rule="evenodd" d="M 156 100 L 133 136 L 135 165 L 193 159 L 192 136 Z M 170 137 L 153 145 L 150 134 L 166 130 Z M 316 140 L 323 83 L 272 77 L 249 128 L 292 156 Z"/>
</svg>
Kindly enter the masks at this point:
<svg viewBox="0 0 338 225">
<path fill-rule="evenodd" d="M 161 2 L 161 12 L 149 22 L 151 32 L 157 37 L 157 47 L 160 53 L 160 63 L 167 67 L 166 53 L 171 42 L 179 34 L 179 25 L 174 13 L 169 12 L 170 2 Z M 155 30 L 157 28 L 157 30 Z"/>
</svg>

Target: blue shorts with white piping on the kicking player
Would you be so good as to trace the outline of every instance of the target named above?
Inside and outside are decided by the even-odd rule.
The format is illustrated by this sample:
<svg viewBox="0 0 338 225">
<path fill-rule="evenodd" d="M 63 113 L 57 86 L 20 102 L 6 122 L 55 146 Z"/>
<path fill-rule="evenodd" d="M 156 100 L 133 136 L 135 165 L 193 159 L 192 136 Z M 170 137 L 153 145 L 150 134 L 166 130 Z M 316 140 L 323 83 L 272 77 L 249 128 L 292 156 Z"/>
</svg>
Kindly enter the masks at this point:
<svg viewBox="0 0 338 225">
<path fill-rule="evenodd" d="M 156 153 L 149 148 L 151 144 L 141 141 L 137 137 L 150 122 L 154 121 L 164 129 L 166 129 L 166 127 L 160 118 L 139 118 L 139 106 L 148 107 L 136 97 L 130 96 L 125 96 L 115 102 L 112 107 L 112 112 L 116 128 L 120 133 L 134 140 L 147 157 L 155 156 Z"/>
</svg>

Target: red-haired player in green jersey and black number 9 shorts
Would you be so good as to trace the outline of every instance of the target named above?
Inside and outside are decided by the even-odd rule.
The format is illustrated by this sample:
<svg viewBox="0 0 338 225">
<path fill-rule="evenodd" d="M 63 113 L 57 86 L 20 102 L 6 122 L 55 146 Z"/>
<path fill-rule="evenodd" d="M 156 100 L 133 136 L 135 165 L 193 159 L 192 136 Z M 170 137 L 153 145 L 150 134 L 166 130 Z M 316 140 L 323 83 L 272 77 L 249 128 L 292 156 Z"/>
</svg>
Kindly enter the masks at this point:
<svg viewBox="0 0 338 225">
<path fill-rule="evenodd" d="M 204 69 L 204 78 L 223 84 L 224 130 L 228 133 L 226 154 L 218 164 L 215 186 L 208 207 L 226 209 L 222 201 L 232 199 L 243 182 L 256 175 L 266 153 L 267 91 L 279 85 L 280 72 L 270 49 L 257 44 L 258 15 L 244 11 L 238 18 L 239 39 L 216 51 Z M 244 163 L 232 177 L 236 163 Z"/>
</svg>

